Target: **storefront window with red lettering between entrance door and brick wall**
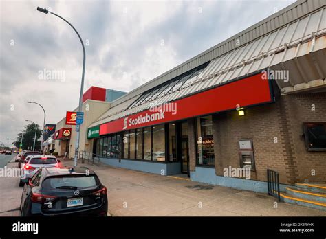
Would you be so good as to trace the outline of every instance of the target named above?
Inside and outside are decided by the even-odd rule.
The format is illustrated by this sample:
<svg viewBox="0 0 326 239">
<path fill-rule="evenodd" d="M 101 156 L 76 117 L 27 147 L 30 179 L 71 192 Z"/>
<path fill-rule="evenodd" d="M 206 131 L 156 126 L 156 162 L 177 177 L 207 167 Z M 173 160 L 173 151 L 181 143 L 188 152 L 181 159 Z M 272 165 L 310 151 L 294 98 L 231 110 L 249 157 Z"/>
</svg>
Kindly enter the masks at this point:
<svg viewBox="0 0 326 239">
<path fill-rule="evenodd" d="M 215 165 L 212 116 L 197 118 L 197 164 Z"/>
</svg>

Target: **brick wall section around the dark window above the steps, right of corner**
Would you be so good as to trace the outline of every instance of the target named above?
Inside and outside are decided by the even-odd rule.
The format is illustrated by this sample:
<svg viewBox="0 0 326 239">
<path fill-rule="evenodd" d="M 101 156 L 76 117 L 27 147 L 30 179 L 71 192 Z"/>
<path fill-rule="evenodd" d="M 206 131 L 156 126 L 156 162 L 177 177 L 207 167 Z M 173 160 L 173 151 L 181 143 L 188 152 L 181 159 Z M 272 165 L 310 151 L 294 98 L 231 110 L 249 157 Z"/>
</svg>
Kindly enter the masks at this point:
<svg viewBox="0 0 326 239">
<path fill-rule="evenodd" d="M 326 183 L 326 152 L 308 152 L 303 137 L 303 122 L 326 122 L 326 93 L 287 95 L 283 100 L 288 107 L 292 131 L 296 181 Z M 315 170 L 315 176 L 312 170 Z"/>
</svg>

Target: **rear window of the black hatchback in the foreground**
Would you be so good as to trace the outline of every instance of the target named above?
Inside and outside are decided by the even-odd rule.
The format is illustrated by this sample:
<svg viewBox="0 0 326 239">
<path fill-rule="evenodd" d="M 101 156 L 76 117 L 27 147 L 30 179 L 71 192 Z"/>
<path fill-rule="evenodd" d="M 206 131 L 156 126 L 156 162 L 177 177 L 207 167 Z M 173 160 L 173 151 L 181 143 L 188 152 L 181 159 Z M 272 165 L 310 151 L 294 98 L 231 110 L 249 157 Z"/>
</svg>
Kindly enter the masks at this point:
<svg viewBox="0 0 326 239">
<path fill-rule="evenodd" d="M 95 187 L 98 185 L 96 177 L 93 176 L 63 176 L 50 177 L 45 179 L 43 187 L 53 189 L 80 189 L 86 187 Z"/>
</svg>

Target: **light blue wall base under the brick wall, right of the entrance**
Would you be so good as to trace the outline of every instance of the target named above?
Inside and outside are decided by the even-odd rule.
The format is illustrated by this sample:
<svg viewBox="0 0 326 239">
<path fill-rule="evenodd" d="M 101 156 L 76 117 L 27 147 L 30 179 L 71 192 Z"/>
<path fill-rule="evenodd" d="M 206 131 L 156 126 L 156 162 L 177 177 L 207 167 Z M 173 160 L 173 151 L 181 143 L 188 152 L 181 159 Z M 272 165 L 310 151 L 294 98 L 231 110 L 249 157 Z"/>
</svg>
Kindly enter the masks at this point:
<svg viewBox="0 0 326 239">
<path fill-rule="evenodd" d="M 215 168 L 196 167 L 194 172 L 190 172 L 190 178 L 191 181 L 197 181 L 199 183 L 208 183 L 254 192 L 268 192 L 267 182 L 217 176 L 215 174 Z M 284 192 L 286 186 L 280 184 L 280 190 Z"/>
</svg>

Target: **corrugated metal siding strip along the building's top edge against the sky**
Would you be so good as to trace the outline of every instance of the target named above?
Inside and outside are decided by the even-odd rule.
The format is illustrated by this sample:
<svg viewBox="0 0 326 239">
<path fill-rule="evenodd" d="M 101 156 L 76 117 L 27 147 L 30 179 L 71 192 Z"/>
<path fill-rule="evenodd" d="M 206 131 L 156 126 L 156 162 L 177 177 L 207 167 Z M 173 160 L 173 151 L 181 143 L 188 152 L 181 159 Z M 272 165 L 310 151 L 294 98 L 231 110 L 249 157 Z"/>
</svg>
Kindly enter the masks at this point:
<svg viewBox="0 0 326 239">
<path fill-rule="evenodd" d="M 228 38 L 226 41 L 219 43 L 215 47 L 211 47 L 210 49 L 206 50 L 202 54 L 187 60 L 183 64 L 167 71 L 166 73 L 154 78 L 153 80 L 143 84 L 142 86 L 134 89 L 133 91 L 129 92 L 127 95 L 122 96 L 118 100 L 112 102 L 112 106 L 116 106 L 125 100 L 129 100 L 130 98 L 135 97 L 136 95 L 140 95 L 144 91 L 148 91 L 149 89 L 156 87 L 167 80 L 170 80 L 176 76 L 179 76 L 186 71 L 193 69 L 199 65 L 208 62 L 209 60 L 213 60 L 214 58 L 219 57 L 222 54 L 226 54 L 226 52 L 230 52 L 231 50 L 237 48 L 238 46 L 235 44 L 237 39 L 240 40 L 241 45 L 246 45 L 250 41 L 253 41 L 255 38 L 259 38 L 268 32 L 274 31 L 276 28 L 281 27 L 285 24 L 294 21 L 295 19 L 308 14 L 318 8 L 321 8 L 323 5 L 326 4 L 326 0 L 300 0 L 292 5 L 272 14 L 272 16 L 260 21 L 259 23 L 249 27 L 246 30 L 243 30 L 239 34 Z"/>
</svg>

